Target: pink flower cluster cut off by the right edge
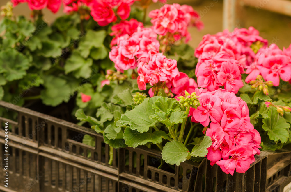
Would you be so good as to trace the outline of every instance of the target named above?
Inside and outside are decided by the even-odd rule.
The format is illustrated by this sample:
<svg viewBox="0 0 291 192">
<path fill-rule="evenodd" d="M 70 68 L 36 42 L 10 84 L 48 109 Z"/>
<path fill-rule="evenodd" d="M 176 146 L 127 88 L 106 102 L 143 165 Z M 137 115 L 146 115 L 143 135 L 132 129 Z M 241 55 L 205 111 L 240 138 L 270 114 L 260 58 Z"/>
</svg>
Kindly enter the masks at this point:
<svg viewBox="0 0 291 192">
<path fill-rule="evenodd" d="M 283 51 L 276 45 L 263 47 L 258 50 L 254 62 L 248 66 L 246 82 L 255 80 L 262 75 L 265 81 L 272 81 L 274 86 L 279 86 L 280 77 L 283 81 L 291 79 L 291 45 Z"/>
</svg>

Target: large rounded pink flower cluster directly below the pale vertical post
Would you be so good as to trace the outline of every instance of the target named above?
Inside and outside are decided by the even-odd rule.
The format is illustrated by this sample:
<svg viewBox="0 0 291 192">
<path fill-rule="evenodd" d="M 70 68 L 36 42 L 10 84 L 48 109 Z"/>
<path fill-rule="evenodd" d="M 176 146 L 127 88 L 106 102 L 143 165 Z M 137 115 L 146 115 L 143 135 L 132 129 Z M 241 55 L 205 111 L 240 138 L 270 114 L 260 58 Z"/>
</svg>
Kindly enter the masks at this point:
<svg viewBox="0 0 291 192">
<path fill-rule="evenodd" d="M 267 40 L 260 37 L 253 27 L 205 35 L 195 50 L 198 86 L 209 91 L 224 86 L 229 92 L 237 93 L 243 86 L 241 74 L 255 58 L 250 46 L 257 41 L 267 45 Z"/>
</svg>

